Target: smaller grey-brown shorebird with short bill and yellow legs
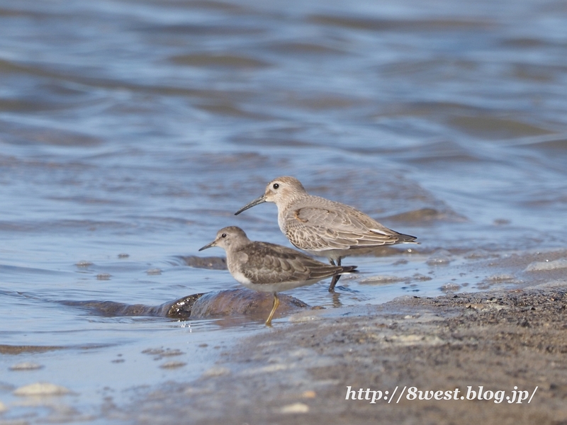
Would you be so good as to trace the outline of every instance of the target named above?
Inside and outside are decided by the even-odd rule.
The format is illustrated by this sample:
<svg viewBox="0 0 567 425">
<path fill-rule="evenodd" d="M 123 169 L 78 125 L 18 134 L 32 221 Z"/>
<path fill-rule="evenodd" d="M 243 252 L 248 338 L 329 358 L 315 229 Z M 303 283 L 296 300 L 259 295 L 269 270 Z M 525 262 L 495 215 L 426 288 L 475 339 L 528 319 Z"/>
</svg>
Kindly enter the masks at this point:
<svg viewBox="0 0 567 425">
<path fill-rule="evenodd" d="M 251 241 L 244 230 L 236 226 L 220 229 L 215 240 L 199 251 L 212 246 L 220 246 L 226 251 L 228 271 L 239 283 L 249 289 L 274 294 L 274 305 L 266 326 L 271 326 L 271 318 L 278 308 L 277 293 L 343 273 L 356 273 L 354 269 L 357 268 L 321 263 L 287 246 Z"/>
</svg>

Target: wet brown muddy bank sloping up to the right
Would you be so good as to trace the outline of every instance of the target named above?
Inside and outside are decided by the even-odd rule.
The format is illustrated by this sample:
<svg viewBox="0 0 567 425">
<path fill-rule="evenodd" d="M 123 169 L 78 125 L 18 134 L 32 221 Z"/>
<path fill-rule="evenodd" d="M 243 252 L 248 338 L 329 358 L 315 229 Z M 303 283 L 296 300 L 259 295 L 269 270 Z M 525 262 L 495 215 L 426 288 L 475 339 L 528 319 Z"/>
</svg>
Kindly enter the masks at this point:
<svg viewBox="0 0 567 425">
<path fill-rule="evenodd" d="M 196 382 L 138 400 L 137 423 L 565 424 L 566 293 L 563 285 L 304 311 L 223 353 Z M 419 390 L 441 399 L 420 400 Z"/>
</svg>

